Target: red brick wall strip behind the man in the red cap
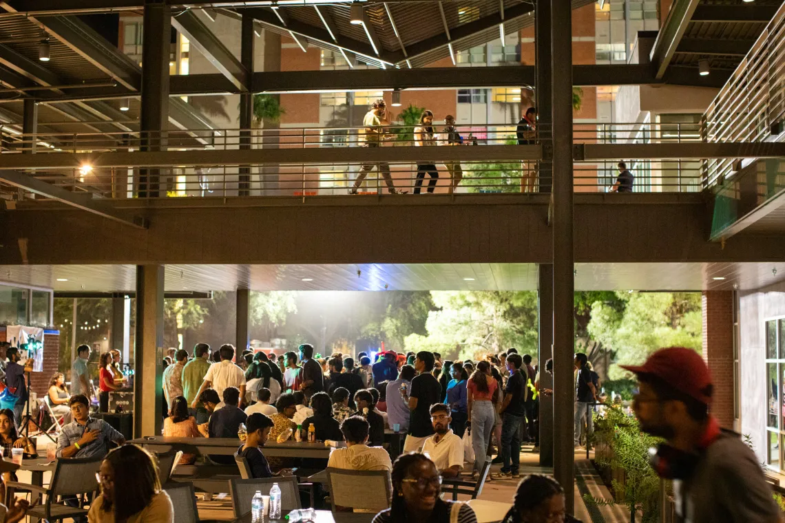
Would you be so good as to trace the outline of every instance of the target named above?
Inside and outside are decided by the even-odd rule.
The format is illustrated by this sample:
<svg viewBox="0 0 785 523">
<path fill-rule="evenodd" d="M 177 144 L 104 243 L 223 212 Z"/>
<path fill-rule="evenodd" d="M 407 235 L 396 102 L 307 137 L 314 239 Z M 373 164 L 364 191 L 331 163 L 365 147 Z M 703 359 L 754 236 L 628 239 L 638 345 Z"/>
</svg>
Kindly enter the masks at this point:
<svg viewBox="0 0 785 523">
<path fill-rule="evenodd" d="M 733 292 L 703 291 L 703 359 L 714 380 L 711 413 L 733 428 Z"/>
</svg>

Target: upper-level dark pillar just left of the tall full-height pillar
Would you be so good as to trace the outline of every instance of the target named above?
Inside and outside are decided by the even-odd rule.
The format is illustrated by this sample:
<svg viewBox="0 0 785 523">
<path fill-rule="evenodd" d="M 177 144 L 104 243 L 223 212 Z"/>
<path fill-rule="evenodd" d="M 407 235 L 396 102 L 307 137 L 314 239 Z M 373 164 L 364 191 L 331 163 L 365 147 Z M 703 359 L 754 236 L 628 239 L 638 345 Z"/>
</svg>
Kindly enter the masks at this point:
<svg viewBox="0 0 785 523">
<path fill-rule="evenodd" d="M 553 144 L 550 103 L 552 60 L 550 49 L 550 0 L 537 0 L 535 5 L 535 107 L 537 107 L 537 137 L 542 147 L 542 161 L 537 173 L 538 191 L 550 193 L 553 187 Z"/>
</svg>

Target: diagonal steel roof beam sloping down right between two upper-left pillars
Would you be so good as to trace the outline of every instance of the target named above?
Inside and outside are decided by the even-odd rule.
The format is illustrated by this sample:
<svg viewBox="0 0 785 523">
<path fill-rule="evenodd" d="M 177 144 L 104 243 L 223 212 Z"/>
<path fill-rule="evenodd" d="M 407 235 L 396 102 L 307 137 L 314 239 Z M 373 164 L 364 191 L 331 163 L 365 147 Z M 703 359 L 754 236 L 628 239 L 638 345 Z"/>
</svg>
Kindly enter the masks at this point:
<svg viewBox="0 0 785 523">
<path fill-rule="evenodd" d="M 193 11 L 185 11 L 172 17 L 172 25 L 185 35 L 196 49 L 202 52 L 210 64 L 213 64 L 218 71 L 221 71 L 229 82 L 235 85 L 240 91 L 247 91 L 250 87 L 250 72 L 235 55 L 226 48 L 220 38 L 214 35 L 213 31 L 207 27 L 199 16 Z M 253 20 L 251 21 L 251 36 L 253 37 Z"/>
</svg>

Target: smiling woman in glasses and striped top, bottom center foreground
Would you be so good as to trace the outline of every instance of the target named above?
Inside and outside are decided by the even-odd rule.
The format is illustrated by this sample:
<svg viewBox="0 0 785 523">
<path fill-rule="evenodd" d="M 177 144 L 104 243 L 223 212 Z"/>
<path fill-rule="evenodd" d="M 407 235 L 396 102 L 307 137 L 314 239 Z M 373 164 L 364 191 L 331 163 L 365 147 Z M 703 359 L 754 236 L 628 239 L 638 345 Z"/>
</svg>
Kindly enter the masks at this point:
<svg viewBox="0 0 785 523">
<path fill-rule="evenodd" d="M 477 523 L 468 503 L 441 499 L 441 476 L 425 454 L 403 454 L 392 464 L 392 504 L 371 523 Z M 453 511 L 456 512 L 453 515 Z"/>
</svg>

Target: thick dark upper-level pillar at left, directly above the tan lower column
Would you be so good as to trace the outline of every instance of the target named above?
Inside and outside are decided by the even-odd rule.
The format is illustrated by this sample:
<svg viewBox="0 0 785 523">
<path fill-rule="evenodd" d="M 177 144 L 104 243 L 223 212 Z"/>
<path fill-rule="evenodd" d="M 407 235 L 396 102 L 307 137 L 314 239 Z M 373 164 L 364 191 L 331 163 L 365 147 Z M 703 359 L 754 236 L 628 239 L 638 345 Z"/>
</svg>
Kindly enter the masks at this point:
<svg viewBox="0 0 785 523">
<path fill-rule="evenodd" d="M 142 37 L 141 151 L 166 151 L 169 122 L 169 55 L 172 10 L 164 0 L 144 2 Z M 158 198 L 161 169 L 140 169 L 139 198 Z"/>
</svg>

